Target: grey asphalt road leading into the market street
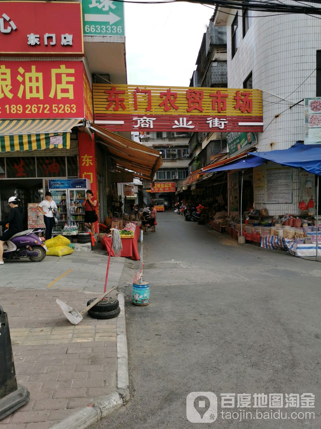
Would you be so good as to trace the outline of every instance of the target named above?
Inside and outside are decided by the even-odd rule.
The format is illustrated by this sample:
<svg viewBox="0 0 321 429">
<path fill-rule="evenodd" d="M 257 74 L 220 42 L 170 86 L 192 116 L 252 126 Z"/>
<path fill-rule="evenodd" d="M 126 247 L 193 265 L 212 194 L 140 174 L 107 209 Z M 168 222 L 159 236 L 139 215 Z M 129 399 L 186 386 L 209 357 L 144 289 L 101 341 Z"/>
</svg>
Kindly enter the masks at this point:
<svg viewBox="0 0 321 429">
<path fill-rule="evenodd" d="M 159 214 L 157 232 L 144 236 L 144 262 L 148 306 L 131 304 L 138 263 L 127 260 L 119 283 L 126 298 L 131 400 L 91 429 L 198 427 L 186 417 L 191 392 L 218 398 L 216 421 L 200 427 L 320 428 L 320 263 L 238 245 L 174 213 Z M 235 394 L 235 408 L 221 407 L 223 393 Z M 245 402 L 250 408 L 238 407 L 244 393 L 251 395 Z M 268 395 L 267 407 L 265 396 L 255 404 L 260 393 Z M 273 393 L 283 394 L 282 408 L 277 396 L 269 406 Z M 297 393 L 314 394 L 315 408 L 285 408 L 285 394 Z M 196 396 L 192 413 L 195 405 L 196 417 L 208 416 L 208 409 L 215 417 L 213 399 Z M 296 397 L 290 398 L 295 405 Z M 241 418 L 226 414 L 240 410 Z M 285 419 L 267 418 L 278 410 Z M 255 418 L 243 420 L 244 412 Z M 268 414 L 263 420 L 256 412 Z"/>
</svg>

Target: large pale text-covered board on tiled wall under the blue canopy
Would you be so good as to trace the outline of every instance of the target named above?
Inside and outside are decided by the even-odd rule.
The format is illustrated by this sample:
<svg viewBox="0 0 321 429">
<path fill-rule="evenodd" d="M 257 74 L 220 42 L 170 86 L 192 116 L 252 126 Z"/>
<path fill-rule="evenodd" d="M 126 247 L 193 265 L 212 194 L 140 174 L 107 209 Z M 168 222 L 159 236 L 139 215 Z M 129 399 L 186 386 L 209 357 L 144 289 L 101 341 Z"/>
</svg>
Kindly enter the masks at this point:
<svg viewBox="0 0 321 429">
<path fill-rule="evenodd" d="M 254 202 L 291 204 L 292 169 L 282 166 L 264 166 L 254 169 Z"/>
</svg>

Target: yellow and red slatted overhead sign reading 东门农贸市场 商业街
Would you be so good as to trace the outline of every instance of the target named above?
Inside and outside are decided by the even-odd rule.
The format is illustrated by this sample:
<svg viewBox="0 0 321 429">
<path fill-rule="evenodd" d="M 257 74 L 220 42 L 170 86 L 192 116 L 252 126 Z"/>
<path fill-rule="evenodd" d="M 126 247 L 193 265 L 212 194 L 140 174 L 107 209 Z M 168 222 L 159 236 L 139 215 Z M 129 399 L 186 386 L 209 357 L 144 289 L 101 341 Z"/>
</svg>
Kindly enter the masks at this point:
<svg viewBox="0 0 321 429">
<path fill-rule="evenodd" d="M 113 131 L 262 132 L 262 91 L 92 86 L 95 124 Z"/>
</svg>

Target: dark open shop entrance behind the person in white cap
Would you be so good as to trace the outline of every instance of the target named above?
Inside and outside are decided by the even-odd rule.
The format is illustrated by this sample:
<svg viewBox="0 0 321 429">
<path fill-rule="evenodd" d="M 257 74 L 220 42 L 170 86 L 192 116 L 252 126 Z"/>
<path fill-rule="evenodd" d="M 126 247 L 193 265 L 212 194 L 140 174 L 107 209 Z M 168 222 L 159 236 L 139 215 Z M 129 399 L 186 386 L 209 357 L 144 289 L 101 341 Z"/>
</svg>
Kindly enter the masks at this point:
<svg viewBox="0 0 321 429">
<path fill-rule="evenodd" d="M 8 200 L 16 196 L 21 200 L 23 210 L 24 228 L 28 226 L 28 202 L 41 202 L 43 200 L 42 179 L 3 179 L 0 180 L 0 219 L 5 219 L 10 213 Z"/>
</svg>

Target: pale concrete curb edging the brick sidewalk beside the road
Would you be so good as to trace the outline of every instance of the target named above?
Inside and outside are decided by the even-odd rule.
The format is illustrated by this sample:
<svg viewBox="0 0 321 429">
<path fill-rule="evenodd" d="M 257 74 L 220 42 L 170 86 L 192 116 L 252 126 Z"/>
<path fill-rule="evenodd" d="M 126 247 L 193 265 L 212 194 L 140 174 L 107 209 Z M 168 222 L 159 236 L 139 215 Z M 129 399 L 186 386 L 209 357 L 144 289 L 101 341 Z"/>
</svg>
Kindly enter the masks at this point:
<svg viewBox="0 0 321 429">
<path fill-rule="evenodd" d="M 103 419 L 113 410 L 120 408 L 129 400 L 128 350 L 125 323 L 125 299 L 122 293 L 117 296 L 120 314 L 117 317 L 117 391 L 101 396 L 93 404 L 66 417 L 51 429 L 85 429 L 92 423 Z"/>
</svg>

